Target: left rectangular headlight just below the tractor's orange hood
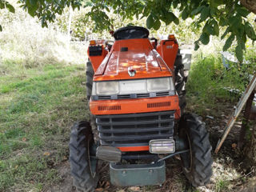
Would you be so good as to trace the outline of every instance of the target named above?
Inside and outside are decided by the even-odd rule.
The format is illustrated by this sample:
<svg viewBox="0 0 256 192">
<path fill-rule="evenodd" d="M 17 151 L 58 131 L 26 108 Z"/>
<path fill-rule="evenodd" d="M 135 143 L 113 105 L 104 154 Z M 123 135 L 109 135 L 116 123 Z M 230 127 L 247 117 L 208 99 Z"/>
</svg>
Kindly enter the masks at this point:
<svg viewBox="0 0 256 192">
<path fill-rule="evenodd" d="M 118 94 L 119 86 L 118 82 L 96 82 L 96 93 L 99 95 Z"/>
</svg>

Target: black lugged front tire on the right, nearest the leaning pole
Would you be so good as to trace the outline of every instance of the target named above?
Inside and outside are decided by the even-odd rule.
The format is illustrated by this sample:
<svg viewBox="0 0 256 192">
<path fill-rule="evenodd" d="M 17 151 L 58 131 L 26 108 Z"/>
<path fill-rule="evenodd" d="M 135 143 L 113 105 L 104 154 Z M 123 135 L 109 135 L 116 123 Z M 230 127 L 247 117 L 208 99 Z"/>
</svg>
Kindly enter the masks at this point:
<svg viewBox="0 0 256 192">
<path fill-rule="evenodd" d="M 190 152 L 181 154 L 183 172 L 193 186 L 205 186 L 210 182 L 213 163 L 205 123 L 195 114 L 184 114 L 179 127 L 179 136 L 190 146 Z"/>
</svg>

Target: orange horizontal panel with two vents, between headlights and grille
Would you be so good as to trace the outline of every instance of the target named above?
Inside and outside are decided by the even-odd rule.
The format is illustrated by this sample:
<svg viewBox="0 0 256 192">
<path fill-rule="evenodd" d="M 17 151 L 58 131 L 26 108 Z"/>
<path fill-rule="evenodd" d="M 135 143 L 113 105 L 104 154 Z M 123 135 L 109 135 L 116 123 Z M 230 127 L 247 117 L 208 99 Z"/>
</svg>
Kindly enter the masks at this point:
<svg viewBox="0 0 256 192">
<path fill-rule="evenodd" d="M 90 112 L 104 114 L 136 114 L 164 110 L 179 110 L 178 95 L 159 98 L 90 100 Z"/>
</svg>

